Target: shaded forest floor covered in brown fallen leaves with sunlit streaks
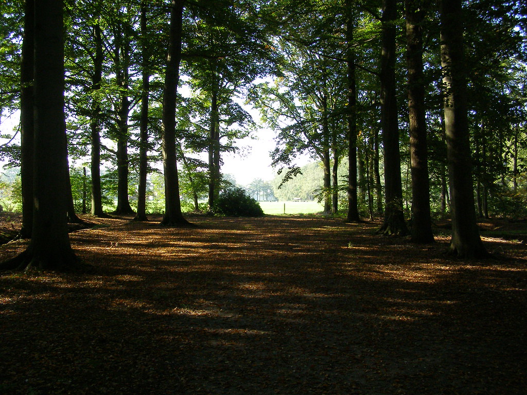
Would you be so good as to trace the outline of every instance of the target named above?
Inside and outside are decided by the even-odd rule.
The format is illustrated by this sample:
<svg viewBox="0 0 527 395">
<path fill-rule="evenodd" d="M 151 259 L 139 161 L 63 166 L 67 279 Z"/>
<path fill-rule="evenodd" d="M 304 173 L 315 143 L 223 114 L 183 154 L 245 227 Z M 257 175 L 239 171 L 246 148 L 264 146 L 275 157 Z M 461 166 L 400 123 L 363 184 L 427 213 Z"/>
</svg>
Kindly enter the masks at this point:
<svg viewBox="0 0 527 395">
<path fill-rule="evenodd" d="M 320 216 L 86 219 L 91 271 L 0 273 L 3 395 L 527 392 L 526 222 L 480 223 L 492 256 L 465 262 L 442 228 L 419 246 Z"/>
</svg>

